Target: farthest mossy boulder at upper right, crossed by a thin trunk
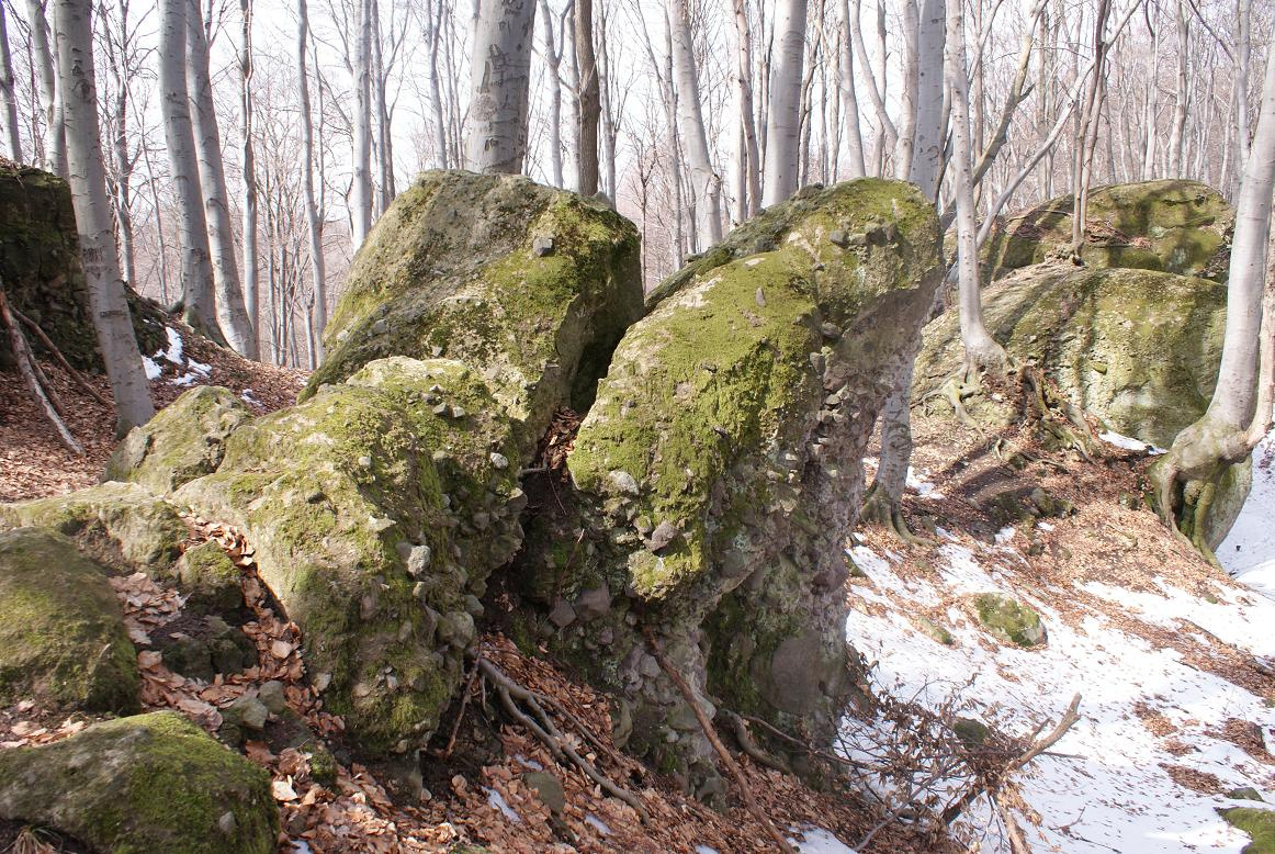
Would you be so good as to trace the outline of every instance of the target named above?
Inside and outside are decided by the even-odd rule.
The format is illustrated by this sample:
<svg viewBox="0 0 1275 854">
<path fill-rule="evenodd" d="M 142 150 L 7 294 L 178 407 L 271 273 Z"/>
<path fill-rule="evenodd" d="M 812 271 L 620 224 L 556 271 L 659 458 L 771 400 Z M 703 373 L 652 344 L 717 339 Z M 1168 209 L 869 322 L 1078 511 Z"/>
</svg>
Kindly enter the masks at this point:
<svg viewBox="0 0 1275 854">
<path fill-rule="evenodd" d="M 997 223 L 983 280 L 1070 255 L 1072 196 Z M 1235 212 L 1213 187 L 1168 178 L 1096 187 L 1089 196 L 1085 266 L 1126 266 L 1224 280 Z"/>
</svg>

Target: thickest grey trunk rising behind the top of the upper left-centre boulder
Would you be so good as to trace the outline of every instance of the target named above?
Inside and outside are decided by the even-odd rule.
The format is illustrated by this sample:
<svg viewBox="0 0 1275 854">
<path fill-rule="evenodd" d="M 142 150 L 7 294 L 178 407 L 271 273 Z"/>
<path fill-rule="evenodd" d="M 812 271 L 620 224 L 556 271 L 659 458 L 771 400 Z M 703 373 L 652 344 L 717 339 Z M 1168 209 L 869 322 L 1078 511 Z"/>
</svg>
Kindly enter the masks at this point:
<svg viewBox="0 0 1275 854">
<path fill-rule="evenodd" d="M 468 161 L 518 175 L 527 158 L 534 0 L 476 0 Z"/>
</svg>

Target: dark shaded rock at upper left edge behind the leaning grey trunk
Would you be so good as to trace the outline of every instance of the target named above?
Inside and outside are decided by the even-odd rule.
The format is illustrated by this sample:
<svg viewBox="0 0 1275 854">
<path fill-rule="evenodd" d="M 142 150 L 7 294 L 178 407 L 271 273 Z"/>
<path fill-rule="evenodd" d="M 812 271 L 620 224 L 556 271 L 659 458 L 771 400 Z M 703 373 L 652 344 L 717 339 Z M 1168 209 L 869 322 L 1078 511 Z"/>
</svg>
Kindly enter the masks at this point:
<svg viewBox="0 0 1275 854">
<path fill-rule="evenodd" d="M 0 280 L 10 305 L 40 325 L 71 365 L 102 368 L 71 191 L 56 175 L 0 166 Z M 131 289 L 127 296 L 142 349 L 152 353 L 163 344 L 162 312 Z M 42 354 L 43 345 L 26 331 Z M 8 337 L 0 335 L 0 370 L 11 362 Z"/>
</svg>

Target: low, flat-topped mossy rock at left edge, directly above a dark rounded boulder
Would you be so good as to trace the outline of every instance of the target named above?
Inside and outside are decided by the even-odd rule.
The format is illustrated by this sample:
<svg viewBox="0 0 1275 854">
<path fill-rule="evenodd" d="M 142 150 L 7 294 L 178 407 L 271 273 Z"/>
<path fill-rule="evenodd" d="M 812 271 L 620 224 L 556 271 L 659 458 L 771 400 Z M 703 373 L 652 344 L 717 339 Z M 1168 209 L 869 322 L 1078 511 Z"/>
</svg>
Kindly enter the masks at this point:
<svg viewBox="0 0 1275 854">
<path fill-rule="evenodd" d="M 48 528 L 117 570 L 167 576 L 190 532 L 177 510 L 133 483 L 103 483 L 64 496 L 0 505 L 0 530 Z"/>
</svg>

